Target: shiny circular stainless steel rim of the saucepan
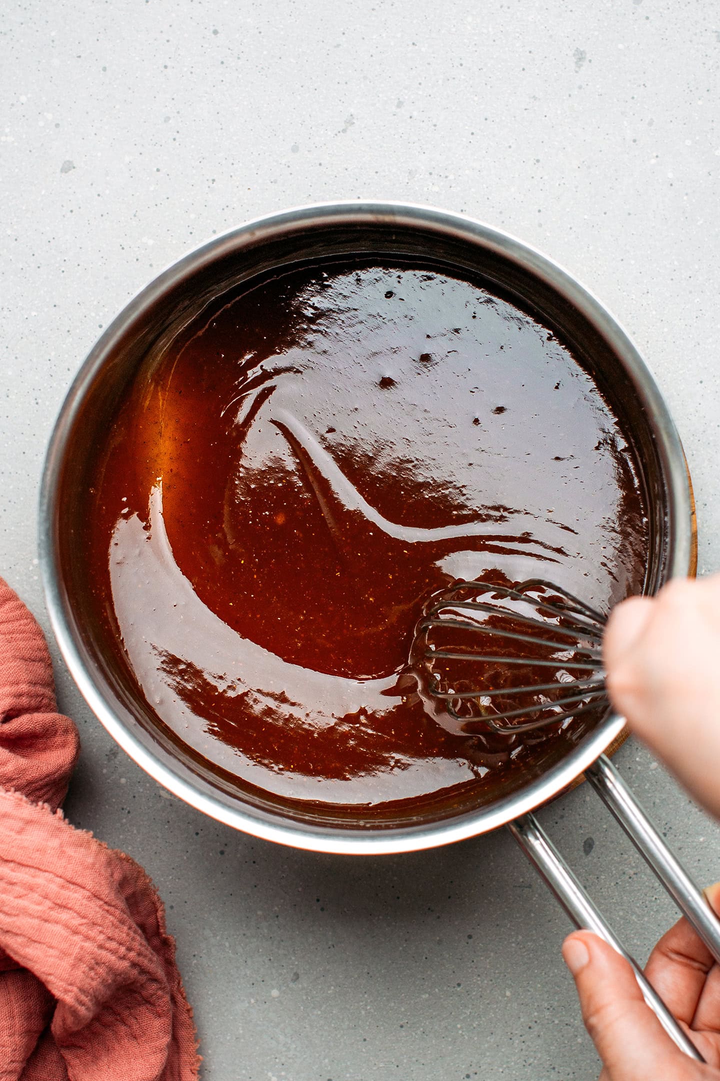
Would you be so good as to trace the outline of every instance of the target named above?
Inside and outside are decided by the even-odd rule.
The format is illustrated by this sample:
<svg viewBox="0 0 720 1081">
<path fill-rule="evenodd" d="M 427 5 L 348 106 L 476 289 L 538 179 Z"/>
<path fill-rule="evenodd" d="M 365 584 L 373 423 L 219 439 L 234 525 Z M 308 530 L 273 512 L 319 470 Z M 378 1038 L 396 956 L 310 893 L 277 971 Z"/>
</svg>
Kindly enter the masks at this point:
<svg viewBox="0 0 720 1081">
<path fill-rule="evenodd" d="M 432 206 L 403 202 L 329 202 L 298 206 L 247 222 L 208 243 L 193 249 L 146 285 L 110 323 L 80 368 L 68 390 L 53 430 L 40 490 L 39 553 L 51 626 L 60 653 L 87 705 L 113 739 L 147 773 L 179 799 L 209 817 L 254 837 L 298 849 L 338 854 L 383 854 L 436 848 L 505 825 L 532 811 L 572 784 L 617 738 L 624 721 L 608 717 L 596 730 L 542 776 L 518 792 L 487 806 L 436 823 L 402 827 L 358 829 L 314 826 L 284 817 L 280 810 L 268 814 L 220 790 L 194 775 L 166 748 L 144 740 L 123 720 L 123 710 L 101 673 L 89 663 L 71 617 L 69 600 L 62 588 L 57 521 L 59 480 L 73 421 L 108 357 L 133 325 L 175 285 L 204 267 L 248 244 L 257 244 L 318 225 L 375 223 L 436 231 L 470 241 L 530 271 L 553 288 L 590 323 L 621 360 L 648 415 L 655 439 L 666 492 L 666 578 L 685 576 L 692 562 L 692 497 L 682 445 L 653 376 L 616 319 L 572 275 L 536 249 L 500 229 L 466 215 Z"/>
</svg>

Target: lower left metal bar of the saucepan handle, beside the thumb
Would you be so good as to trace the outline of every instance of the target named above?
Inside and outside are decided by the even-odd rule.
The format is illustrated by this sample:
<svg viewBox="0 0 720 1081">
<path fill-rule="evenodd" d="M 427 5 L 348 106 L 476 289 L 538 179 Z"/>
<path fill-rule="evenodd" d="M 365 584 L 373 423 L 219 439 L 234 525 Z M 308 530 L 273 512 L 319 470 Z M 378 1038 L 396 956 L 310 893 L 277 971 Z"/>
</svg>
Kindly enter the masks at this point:
<svg viewBox="0 0 720 1081">
<path fill-rule="evenodd" d="M 576 927 L 594 931 L 630 963 L 642 997 L 677 1046 L 698 1063 L 705 1059 L 685 1036 L 660 995 L 646 979 L 637 961 L 620 939 L 575 878 L 533 814 L 525 814 L 507 827 L 526 856 L 566 910 Z"/>
</svg>

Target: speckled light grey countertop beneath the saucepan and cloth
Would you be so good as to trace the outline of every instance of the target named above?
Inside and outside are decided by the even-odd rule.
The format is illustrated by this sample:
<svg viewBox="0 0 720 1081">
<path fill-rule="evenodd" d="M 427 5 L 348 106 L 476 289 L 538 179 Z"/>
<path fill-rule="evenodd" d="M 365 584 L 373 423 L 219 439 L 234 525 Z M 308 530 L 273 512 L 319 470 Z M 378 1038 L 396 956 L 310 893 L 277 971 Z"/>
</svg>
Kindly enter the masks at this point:
<svg viewBox="0 0 720 1081">
<path fill-rule="evenodd" d="M 358 196 L 536 244 L 627 326 L 684 440 L 720 566 L 720 14 L 709 0 L 5 0 L 0 573 L 46 626 L 36 499 L 63 395 L 188 248 Z M 253 841 L 119 751 L 57 658 L 67 811 L 158 883 L 206 1081 L 592 1079 L 566 918 L 504 832 L 405 857 Z M 720 832 L 637 745 L 617 761 L 701 883 Z M 542 822 L 644 957 L 674 918 L 594 793 Z"/>
</svg>

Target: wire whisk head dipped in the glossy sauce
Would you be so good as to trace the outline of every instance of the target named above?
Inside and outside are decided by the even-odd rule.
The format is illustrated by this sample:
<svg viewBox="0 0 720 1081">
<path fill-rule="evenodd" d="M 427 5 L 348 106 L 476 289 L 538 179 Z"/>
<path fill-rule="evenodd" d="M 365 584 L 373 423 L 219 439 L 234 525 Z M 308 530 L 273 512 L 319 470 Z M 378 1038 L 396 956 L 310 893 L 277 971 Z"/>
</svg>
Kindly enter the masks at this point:
<svg viewBox="0 0 720 1081">
<path fill-rule="evenodd" d="M 436 593 L 416 627 L 422 690 L 463 732 L 562 724 L 608 706 L 607 615 L 552 582 L 459 582 Z M 552 675 L 552 681 L 548 677 Z"/>
</svg>

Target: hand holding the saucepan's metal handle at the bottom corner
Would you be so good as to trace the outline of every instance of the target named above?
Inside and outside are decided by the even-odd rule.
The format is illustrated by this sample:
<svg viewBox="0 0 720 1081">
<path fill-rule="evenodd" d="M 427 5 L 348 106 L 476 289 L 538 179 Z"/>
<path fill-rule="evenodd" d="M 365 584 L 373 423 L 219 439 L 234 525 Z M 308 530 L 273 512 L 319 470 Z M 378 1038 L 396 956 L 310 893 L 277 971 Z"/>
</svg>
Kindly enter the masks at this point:
<svg viewBox="0 0 720 1081">
<path fill-rule="evenodd" d="M 720 915 L 720 883 L 706 894 Z M 576 931 L 566 938 L 562 957 L 602 1059 L 600 1081 L 720 1081 L 720 966 L 685 919 L 657 943 L 646 975 L 707 1065 L 675 1045 L 612 946 Z"/>
</svg>

